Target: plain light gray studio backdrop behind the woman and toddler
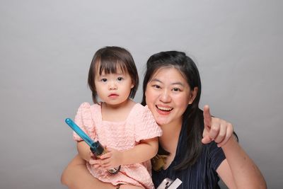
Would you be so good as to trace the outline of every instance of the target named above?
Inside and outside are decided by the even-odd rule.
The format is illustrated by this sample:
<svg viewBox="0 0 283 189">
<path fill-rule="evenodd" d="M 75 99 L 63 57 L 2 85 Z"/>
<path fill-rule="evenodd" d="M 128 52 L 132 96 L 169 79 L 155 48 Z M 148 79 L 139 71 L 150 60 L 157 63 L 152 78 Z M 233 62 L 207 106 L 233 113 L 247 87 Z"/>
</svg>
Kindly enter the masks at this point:
<svg viewBox="0 0 283 189">
<path fill-rule="evenodd" d="M 0 1 L 0 188 L 65 188 L 76 154 L 65 118 L 84 101 L 94 52 L 197 62 L 201 107 L 233 123 L 269 188 L 282 188 L 282 1 Z M 135 101 L 141 101 L 141 87 Z"/>
</svg>

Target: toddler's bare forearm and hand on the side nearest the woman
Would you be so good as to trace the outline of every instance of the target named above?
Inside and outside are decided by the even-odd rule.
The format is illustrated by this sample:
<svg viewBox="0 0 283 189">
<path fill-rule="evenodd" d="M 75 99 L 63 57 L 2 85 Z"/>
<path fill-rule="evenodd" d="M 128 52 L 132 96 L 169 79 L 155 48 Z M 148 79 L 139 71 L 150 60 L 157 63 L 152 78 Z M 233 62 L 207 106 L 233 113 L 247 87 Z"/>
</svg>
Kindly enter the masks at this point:
<svg viewBox="0 0 283 189">
<path fill-rule="evenodd" d="M 120 165 L 141 163 L 156 155 L 158 151 L 158 138 L 141 140 L 140 144 L 125 151 L 107 150 L 108 153 L 100 156 L 100 160 L 96 160 L 100 161 L 100 165 L 104 168 L 109 169 Z"/>
</svg>

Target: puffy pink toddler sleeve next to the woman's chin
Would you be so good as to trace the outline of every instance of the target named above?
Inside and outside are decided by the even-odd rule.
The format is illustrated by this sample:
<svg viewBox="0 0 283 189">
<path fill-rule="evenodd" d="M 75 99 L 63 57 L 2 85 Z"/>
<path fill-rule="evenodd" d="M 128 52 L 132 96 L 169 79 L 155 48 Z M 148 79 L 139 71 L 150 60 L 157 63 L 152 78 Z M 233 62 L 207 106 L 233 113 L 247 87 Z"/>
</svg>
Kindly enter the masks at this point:
<svg viewBox="0 0 283 189">
<path fill-rule="evenodd" d="M 154 120 L 154 116 L 147 106 L 140 105 L 134 124 L 135 140 L 151 139 L 162 135 L 161 127 Z"/>
</svg>

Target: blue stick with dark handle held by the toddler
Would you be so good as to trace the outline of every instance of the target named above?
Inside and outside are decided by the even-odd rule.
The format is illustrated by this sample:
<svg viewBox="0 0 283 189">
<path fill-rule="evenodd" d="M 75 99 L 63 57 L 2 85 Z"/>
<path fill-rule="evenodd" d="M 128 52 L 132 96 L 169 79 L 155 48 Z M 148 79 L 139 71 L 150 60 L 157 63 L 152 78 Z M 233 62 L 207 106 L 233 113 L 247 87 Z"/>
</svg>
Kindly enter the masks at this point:
<svg viewBox="0 0 283 189">
<path fill-rule="evenodd" d="M 65 122 L 71 127 L 72 130 L 74 130 L 74 132 L 76 132 L 76 134 L 79 135 L 79 137 L 81 137 L 86 142 L 86 144 L 88 144 L 89 147 L 91 147 L 91 152 L 93 152 L 93 154 L 96 155 L 98 158 L 107 152 L 100 144 L 100 142 L 94 142 L 90 137 L 88 137 L 88 134 L 86 134 L 86 132 L 83 132 L 83 130 L 81 130 L 78 125 L 76 125 L 73 120 L 67 118 Z M 117 168 L 111 168 L 108 170 L 108 172 L 115 174 L 120 171 L 120 168 L 121 166 Z"/>
</svg>

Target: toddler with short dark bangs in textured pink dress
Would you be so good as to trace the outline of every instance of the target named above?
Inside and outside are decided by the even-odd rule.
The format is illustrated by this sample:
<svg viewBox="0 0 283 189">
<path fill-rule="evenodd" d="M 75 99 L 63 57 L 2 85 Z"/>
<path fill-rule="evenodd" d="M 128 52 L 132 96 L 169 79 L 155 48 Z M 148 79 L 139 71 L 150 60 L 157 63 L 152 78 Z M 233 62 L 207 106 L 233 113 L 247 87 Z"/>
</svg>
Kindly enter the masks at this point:
<svg viewBox="0 0 283 189">
<path fill-rule="evenodd" d="M 103 47 L 96 52 L 88 72 L 93 105 L 82 103 L 75 122 L 107 153 L 96 159 L 74 132 L 79 155 L 100 181 L 127 188 L 154 188 L 150 159 L 158 150 L 161 128 L 149 108 L 134 103 L 139 76 L 132 55 L 122 47 Z M 93 159 L 96 159 L 95 161 Z M 120 167 L 111 174 L 107 170 Z"/>
</svg>

